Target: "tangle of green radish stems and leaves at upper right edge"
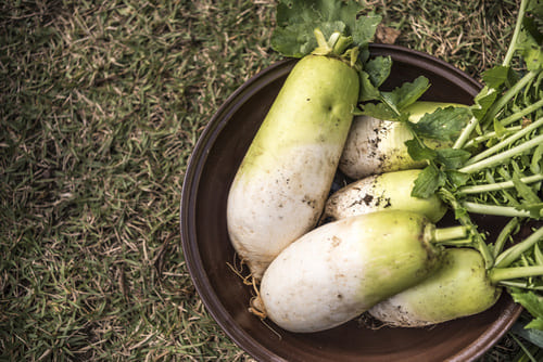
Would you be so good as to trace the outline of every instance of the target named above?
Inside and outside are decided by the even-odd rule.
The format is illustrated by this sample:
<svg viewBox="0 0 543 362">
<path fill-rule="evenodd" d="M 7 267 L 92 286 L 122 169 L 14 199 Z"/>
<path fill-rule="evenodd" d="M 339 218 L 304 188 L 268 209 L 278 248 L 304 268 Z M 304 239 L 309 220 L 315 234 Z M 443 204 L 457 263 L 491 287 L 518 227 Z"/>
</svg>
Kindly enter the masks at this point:
<svg viewBox="0 0 543 362">
<path fill-rule="evenodd" d="M 541 0 L 521 1 L 517 25 L 507 54 L 502 64 L 495 65 L 482 74 L 485 86 L 475 98 L 475 104 L 469 107 L 471 119 L 468 126 L 458 132 L 459 134 L 456 133 L 458 131 L 456 127 L 450 128 L 450 135 L 456 138 L 453 154 L 465 158 L 464 163 L 452 167 L 454 172 L 450 171 L 451 163 L 444 164 L 440 159 L 439 151 L 429 152 L 424 145 L 416 142 L 408 144 L 412 157 L 425 157 L 430 164 L 434 163 L 429 165 L 429 170 L 422 173 L 420 180 L 417 180 L 416 185 L 418 188 L 416 186 L 413 191 L 415 196 L 427 197 L 444 186 L 447 181 L 450 181 L 454 191 L 456 188 L 464 185 L 464 182 L 468 180 L 468 174 L 471 178 L 470 183 L 473 184 L 495 183 L 497 180 L 503 179 L 503 181 L 508 181 L 515 186 L 516 193 L 515 197 L 513 192 L 507 192 L 507 194 L 500 197 L 501 205 L 507 204 L 521 212 L 527 211 L 527 215 L 535 219 L 543 217 L 542 201 L 530 188 L 519 181 L 522 177 L 541 174 L 539 165 L 542 159 L 540 155 L 543 147 L 534 147 L 538 142 L 532 141 L 529 143 L 528 141 L 539 134 L 536 127 L 540 126 L 536 125 L 541 124 L 541 117 L 543 116 L 541 101 L 543 95 L 541 87 L 543 81 L 542 14 L 543 4 Z M 520 61 L 523 62 L 525 72 L 517 72 L 512 67 L 515 55 L 518 55 Z M 466 119 L 466 114 L 456 114 L 455 116 L 458 117 L 456 119 Z M 527 124 L 533 124 L 531 128 L 534 130 L 528 132 Z M 440 121 L 429 121 L 428 125 L 435 129 Z M 420 137 L 424 137 L 427 132 L 427 125 L 424 125 L 424 127 L 417 125 L 412 129 Z M 470 139 L 471 141 L 469 141 Z M 478 139 L 480 141 L 477 141 Z M 496 148 L 495 144 L 503 144 L 501 147 L 504 150 L 503 159 L 497 158 L 497 155 L 490 158 L 493 153 L 498 153 L 497 151 L 501 150 Z M 532 151 L 527 154 L 530 144 Z M 494 146 L 491 150 L 496 151 L 478 151 L 480 145 Z M 505 153 L 505 150 L 507 150 L 507 153 Z M 460 151 L 465 154 L 462 155 Z M 470 158 L 468 151 L 476 152 L 476 155 Z M 425 156 L 422 157 L 422 155 Z M 512 159 L 513 155 L 516 155 L 518 161 L 515 160 L 516 158 Z M 531 156 L 529 157 L 529 155 Z M 507 172 L 504 170 L 507 170 Z M 457 171 L 463 173 L 464 177 L 459 178 Z M 498 174 L 492 172 L 498 172 Z M 515 177 L 516 174 L 519 174 L 519 177 Z M 485 202 L 497 204 L 498 197 L 494 194 L 492 196 L 492 198 L 488 197 Z"/>
</svg>

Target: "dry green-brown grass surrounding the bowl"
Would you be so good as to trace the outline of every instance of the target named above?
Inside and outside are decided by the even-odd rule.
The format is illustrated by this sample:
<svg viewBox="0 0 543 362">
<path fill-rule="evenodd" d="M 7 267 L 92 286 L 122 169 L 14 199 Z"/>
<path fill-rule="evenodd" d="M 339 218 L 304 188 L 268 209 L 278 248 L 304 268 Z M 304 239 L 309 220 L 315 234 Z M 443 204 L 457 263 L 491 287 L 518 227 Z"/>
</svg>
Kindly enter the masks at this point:
<svg viewBox="0 0 543 362">
<path fill-rule="evenodd" d="M 279 60 L 274 1 L 0 4 L 0 353 L 10 361 L 249 361 L 179 247 L 188 157 Z M 396 43 L 480 79 L 515 1 L 367 1 Z M 510 350 L 507 352 L 507 350 Z M 484 360 L 518 350 L 504 339 Z"/>
</svg>

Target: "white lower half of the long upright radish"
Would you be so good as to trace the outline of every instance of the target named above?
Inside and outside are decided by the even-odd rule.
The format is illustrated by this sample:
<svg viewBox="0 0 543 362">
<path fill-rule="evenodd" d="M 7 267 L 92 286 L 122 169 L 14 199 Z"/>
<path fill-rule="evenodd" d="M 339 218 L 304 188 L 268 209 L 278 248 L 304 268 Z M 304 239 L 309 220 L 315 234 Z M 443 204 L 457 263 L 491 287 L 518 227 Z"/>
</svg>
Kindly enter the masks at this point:
<svg viewBox="0 0 543 362">
<path fill-rule="evenodd" d="M 277 172 L 255 172 L 247 178 L 250 182 L 230 191 L 239 209 L 229 217 L 231 241 L 257 279 L 285 246 L 313 229 L 323 208 L 323 186 L 311 180 L 319 180 L 323 169 L 333 167 L 333 147 L 305 145 L 292 147 L 292 153 L 298 157 L 274 160 Z M 292 172 L 282 172 L 289 168 Z"/>
</svg>

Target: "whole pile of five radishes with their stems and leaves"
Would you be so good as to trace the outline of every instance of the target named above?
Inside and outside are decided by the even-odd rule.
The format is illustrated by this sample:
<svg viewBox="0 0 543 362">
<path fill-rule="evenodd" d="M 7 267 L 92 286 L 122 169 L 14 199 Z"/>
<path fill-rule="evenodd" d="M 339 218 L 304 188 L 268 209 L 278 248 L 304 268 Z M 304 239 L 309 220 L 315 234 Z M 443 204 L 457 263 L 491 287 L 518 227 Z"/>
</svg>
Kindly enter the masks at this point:
<svg viewBox="0 0 543 362">
<path fill-rule="evenodd" d="M 541 2 L 522 0 L 471 105 L 420 101 L 422 76 L 381 90 L 392 60 L 371 57 L 380 18 L 361 10 L 278 4 L 274 49 L 301 60 L 227 204 L 257 290 L 251 311 L 299 333 L 365 312 L 417 327 L 482 312 L 507 290 L 543 331 Z M 330 195 L 338 170 L 352 182 Z M 437 227 L 447 210 L 457 224 Z M 473 214 L 507 218 L 493 243 Z"/>
</svg>

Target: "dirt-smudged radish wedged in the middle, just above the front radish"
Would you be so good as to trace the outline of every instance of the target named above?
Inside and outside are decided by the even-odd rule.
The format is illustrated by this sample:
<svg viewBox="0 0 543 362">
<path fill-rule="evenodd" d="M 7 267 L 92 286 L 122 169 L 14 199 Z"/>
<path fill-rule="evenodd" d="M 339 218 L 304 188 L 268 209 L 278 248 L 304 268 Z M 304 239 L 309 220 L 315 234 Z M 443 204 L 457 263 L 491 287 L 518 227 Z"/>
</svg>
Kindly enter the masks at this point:
<svg viewBox="0 0 543 362">
<path fill-rule="evenodd" d="M 421 214 L 435 223 L 447 208 L 435 194 L 428 198 L 411 196 L 419 173 L 419 169 L 386 172 L 352 182 L 328 197 L 321 220 L 380 210 L 406 210 Z"/>
</svg>

